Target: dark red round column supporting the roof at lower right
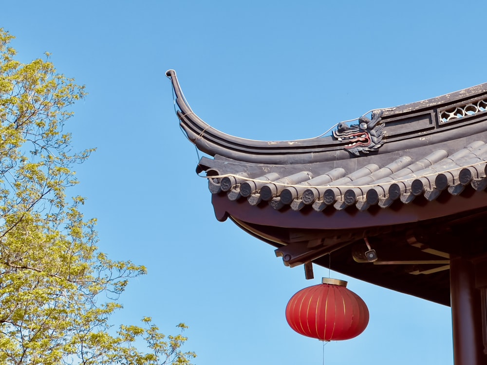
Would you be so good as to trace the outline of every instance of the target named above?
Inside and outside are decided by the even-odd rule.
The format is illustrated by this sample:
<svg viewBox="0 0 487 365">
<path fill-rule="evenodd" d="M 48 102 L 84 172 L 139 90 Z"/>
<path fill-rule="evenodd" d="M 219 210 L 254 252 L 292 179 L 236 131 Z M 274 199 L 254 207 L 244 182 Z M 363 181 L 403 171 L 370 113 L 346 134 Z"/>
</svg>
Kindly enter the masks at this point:
<svg viewBox="0 0 487 365">
<path fill-rule="evenodd" d="M 451 317 L 455 365 L 487 364 L 481 290 L 476 288 L 476 265 L 465 258 L 450 262 Z"/>
</svg>

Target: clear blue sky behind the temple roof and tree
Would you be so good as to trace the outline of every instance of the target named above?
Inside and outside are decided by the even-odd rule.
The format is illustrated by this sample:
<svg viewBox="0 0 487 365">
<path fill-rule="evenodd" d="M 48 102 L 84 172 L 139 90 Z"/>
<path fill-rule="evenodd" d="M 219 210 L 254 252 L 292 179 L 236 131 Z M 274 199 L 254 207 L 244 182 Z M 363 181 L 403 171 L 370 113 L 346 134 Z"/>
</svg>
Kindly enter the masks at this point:
<svg viewBox="0 0 487 365">
<path fill-rule="evenodd" d="M 286 323 L 306 281 L 273 248 L 213 215 L 178 127 L 165 71 L 192 109 L 251 139 L 313 137 L 340 120 L 486 82 L 484 3 L 458 1 L 10 1 L 0 26 L 19 58 L 45 51 L 86 84 L 68 127 L 72 194 L 88 198 L 99 247 L 149 269 L 113 324 L 152 316 L 190 328 L 198 365 L 322 364 L 322 345 Z M 332 277 L 347 280 L 341 274 Z M 326 345 L 325 364 L 452 364 L 450 309 L 349 279 L 369 327 Z"/>
</svg>

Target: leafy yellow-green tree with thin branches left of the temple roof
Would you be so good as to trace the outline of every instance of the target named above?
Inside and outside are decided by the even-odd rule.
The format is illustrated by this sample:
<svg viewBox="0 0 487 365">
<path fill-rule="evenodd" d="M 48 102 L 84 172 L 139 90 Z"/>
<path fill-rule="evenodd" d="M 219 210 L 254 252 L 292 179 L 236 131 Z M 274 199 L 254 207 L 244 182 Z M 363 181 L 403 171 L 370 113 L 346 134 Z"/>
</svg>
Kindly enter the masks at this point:
<svg viewBox="0 0 487 365">
<path fill-rule="evenodd" d="M 0 28 L 0 364 L 189 364 L 187 338 L 166 338 L 150 318 L 110 327 L 118 296 L 146 268 L 99 252 L 84 199 L 66 197 L 73 166 L 93 152 L 73 151 L 63 130 L 84 87 L 49 54 L 20 63 L 12 39 Z"/>
</svg>

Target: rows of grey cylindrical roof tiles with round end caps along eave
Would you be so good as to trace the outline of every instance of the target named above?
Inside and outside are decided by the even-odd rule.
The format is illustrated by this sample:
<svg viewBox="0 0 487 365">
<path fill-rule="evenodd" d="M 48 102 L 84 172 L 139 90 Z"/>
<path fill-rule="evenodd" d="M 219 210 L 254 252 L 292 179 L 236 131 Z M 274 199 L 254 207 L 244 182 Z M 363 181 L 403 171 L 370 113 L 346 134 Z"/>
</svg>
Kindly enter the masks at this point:
<svg viewBox="0 0 487 365">
<path fill-rule="evenodd" d="M 487 185 L 486 160 L 487 144 L 474 141 L 450 155 L 437 149 L 419 159 L 401 156 L 384 166 L 336 167 L 319 174 L 302 170 L 286 175 L 280 165 L 266 166 L 270 172 L 265 175 L 212 170 L 209 186 L 213 194 L 224 192 L 229 200 L 246 199 L 251 205 L 267 202 L 278 210 L 310 205 L 316 211 L 349 206 L 362 211 L 373 205 L 387 208 L 396 200 L 407 204 L 421 195 L 433 201 L 444 190 L 451 195 L 468 186 L 483 190 Z"/>
</svg>

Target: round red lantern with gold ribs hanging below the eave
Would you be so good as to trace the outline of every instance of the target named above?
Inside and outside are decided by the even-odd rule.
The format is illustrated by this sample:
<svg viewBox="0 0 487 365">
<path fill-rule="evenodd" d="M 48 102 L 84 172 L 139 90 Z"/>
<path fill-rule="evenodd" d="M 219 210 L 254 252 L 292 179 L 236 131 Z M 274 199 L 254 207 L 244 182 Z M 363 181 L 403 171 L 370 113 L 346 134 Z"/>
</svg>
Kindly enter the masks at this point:
<svg viewBox="0 0 487 365">
<path fill-rule="evenodd" d="M 369 323 L 369 310 L 346 286 L 346 281 L 323 278 L 322 284 L 300 290 L 287 303 L 287 323 L 296 332 L 322 341 L 358 336 Z"/>
</svg>

